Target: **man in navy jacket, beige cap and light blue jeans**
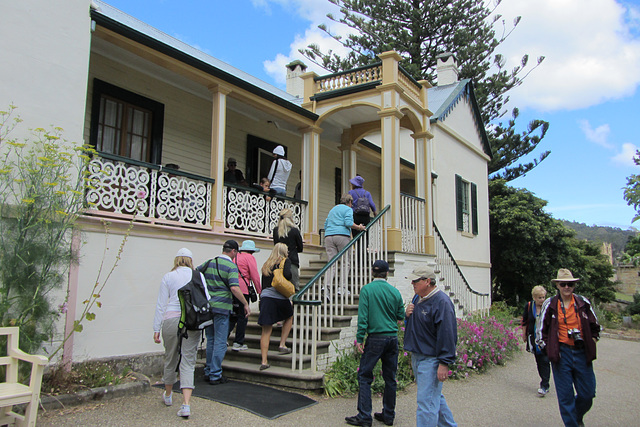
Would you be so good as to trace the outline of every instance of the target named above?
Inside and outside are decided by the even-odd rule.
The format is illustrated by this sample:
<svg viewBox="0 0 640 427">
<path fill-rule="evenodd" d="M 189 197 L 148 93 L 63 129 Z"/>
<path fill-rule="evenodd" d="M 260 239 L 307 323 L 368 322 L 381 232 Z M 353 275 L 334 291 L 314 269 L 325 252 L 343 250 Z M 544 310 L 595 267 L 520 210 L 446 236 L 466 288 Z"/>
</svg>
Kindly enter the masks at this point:
<svg viewBox="0 0 640 427">
<path fill-rule="evenodd" d="M 432 268 L 418 267 L 407 279 L 416 294 L 406 309 L 404 333 L 404 349 L 411 352 L 418 385 L 416 425 L 457 426 L 442 395 L 449 365 L 456 360 L 458 325 L 453 303 L 438 288 Z"/>
</svg>

